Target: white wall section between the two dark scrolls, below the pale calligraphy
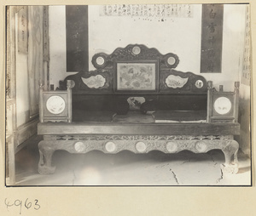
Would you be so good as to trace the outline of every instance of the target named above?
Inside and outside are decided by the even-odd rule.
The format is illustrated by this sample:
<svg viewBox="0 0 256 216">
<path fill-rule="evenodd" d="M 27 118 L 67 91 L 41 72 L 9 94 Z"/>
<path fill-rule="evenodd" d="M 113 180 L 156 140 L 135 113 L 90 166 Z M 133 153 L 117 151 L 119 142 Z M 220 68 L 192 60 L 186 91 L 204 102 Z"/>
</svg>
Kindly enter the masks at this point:
<svg viewBox="0 0 256 216">
<path fill-rule="evenodd" d="M 157 48 L 161 54 L 177 54 L 180 59 L 177 70 L 199 72 L 201 5 L 195 4 L 193 8 L 193 18 L 166 17 L 164 21 L 150 21 L 129 16 L 100 16 L 99 7 L 90 6 L 89 59 L 101 51 L 111 54 L 115 48 L 142 43 Z"/>
</svg>

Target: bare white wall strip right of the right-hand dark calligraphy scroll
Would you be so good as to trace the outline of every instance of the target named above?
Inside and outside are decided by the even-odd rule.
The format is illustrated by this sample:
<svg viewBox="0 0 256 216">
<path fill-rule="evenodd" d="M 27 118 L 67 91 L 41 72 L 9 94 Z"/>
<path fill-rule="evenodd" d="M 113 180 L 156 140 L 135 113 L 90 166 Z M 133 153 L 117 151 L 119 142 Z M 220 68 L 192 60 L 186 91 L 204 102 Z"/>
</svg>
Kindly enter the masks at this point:
<svg viewBox="0 0 256 216">
<path fill-rule="evenodd" d="M 203 75 L 215 84 L 232 91 L 234 82 L 241 81 L 242 49 L 244 46 L 246 5 L 224 5 L 222 73 Z"/>
</svg>

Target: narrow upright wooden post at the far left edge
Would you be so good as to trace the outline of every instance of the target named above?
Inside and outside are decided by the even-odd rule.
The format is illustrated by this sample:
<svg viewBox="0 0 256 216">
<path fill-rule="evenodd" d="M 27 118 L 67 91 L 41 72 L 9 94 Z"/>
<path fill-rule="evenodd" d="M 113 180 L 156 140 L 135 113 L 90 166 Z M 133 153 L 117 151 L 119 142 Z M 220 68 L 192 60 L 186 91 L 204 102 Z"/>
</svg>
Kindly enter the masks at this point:
<svg viewBox="0 0 256 216">
<path fill-rule="evenodd" d="M 7 62 L 6 62 L 6 168 L 9 171 L 9 185 L 15 185 L 15 143 L 16 119 L 16 59 L 15 59 L 15 7 L 8 7 L 7 13 Z M 7 174 L 7 172 L 6 172 Z M 7 177 L 7 176 L 6 176 Z"/>
</svg>

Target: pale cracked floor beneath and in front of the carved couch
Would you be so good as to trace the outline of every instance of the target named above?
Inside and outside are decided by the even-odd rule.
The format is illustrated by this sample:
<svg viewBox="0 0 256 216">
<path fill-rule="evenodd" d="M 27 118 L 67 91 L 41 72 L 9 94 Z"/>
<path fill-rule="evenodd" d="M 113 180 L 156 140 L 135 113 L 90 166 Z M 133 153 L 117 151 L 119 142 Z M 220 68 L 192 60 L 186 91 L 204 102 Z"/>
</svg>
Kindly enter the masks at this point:
<svg viewBox="0 0 256 216">
<path fill-rule="evenodd" d="M 38 147 L 31 142 L 16 156 L 16 185 L 251 185 L 251 161 L 239 152 L 239 172 L 223 173 L 222 151 L 205 154 L 181 151 L 164 154 L 151 151 L 134 154 L 122 151 L 104 154 L 70 154 L 55 151 L 55 173 L 40 175 Z M 9 185 L 9 178 L 6 180 Z"/>
</svg>

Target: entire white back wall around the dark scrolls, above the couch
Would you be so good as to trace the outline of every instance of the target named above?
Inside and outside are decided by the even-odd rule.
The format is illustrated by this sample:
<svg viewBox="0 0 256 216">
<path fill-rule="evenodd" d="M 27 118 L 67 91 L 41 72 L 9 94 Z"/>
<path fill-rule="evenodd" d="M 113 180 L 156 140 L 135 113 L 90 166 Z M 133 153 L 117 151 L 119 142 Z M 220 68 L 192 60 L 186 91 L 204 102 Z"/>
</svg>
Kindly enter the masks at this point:
<svg viewBox="0 0 256 216">
<path fill-rule="evenodd" d="M 129 43 L 143 43 L 157 48 L 161 54 L 174 53 L 179 57 L 178 71 L 200 74 L 201 59 L 201 5 L 195 4 L 193 18 L 166 18 L 165 21 L 138 20 L 131 17 L 100 16 L 98 6 L 89 6 L 89 64 L 93 54 L 111 54 L 115 48 Z M 222 73 L 202 73 L 213 85 L 224 85 L 233 91 L 234 82 L 240 81 L 241 49 L 245 6 L 224 5 L 224 37 Z M 49 7 L 50 84 L 58 86 L 72 73 L 66 72 L 65 6 Z M 94 70 L 90 64 L 90 70 Z"/>
</svg>

